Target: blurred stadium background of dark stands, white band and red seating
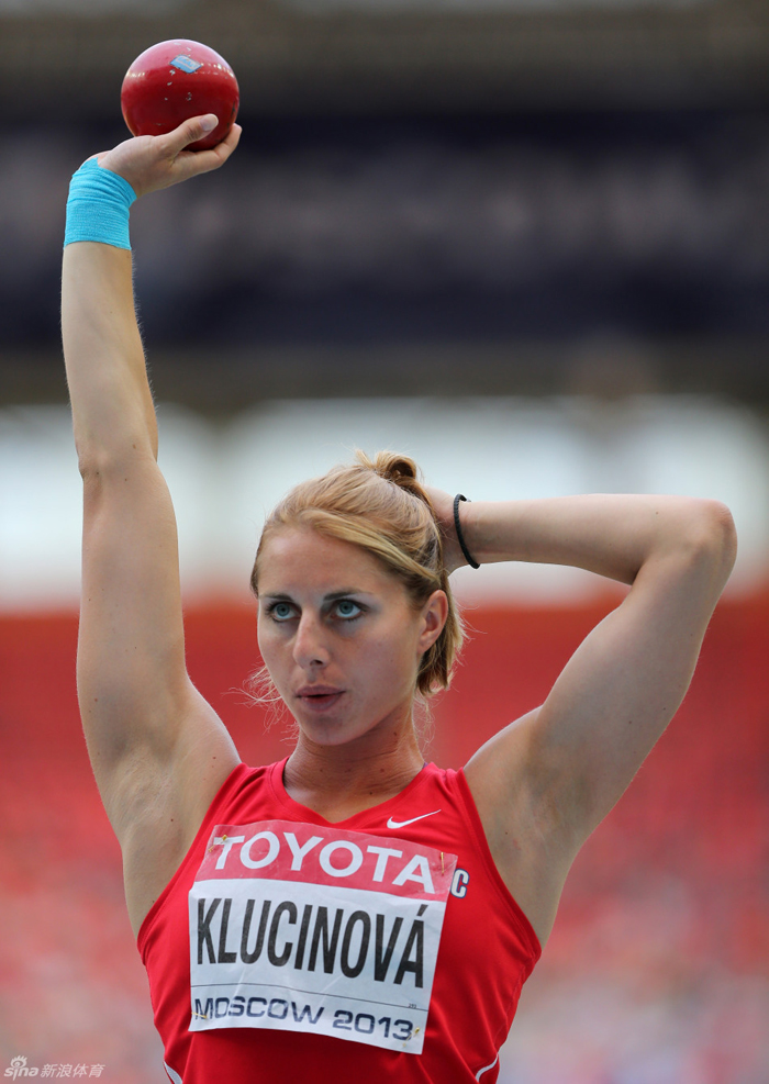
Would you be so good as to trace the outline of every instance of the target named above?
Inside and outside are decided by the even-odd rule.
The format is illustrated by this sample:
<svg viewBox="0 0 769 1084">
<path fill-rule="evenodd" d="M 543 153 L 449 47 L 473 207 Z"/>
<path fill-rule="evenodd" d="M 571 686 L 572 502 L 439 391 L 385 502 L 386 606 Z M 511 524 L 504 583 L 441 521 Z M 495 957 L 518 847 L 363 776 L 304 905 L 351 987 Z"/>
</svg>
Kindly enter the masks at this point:
<svg viewBox="0 0 769 1084">
<path fill-rule="evenodd" d="M 238 692 L 244 584 L 264 510 L 356 445 L 476 499 L 727 501 L 692 690 L 575 868 L 500 1079 L 766 1084 L 766 0 L 0 0 L 0 1068 L 164 1079 L 77 715 L 58 272 L 70 174 L 177 36 L 233 65 L 244 124 L 225 171 L 133 214 L 193 679 L 244 759 L 286 755 Z M 527 568 L 459 590 L 428 746 L 455 767 L 618 597 Z"/>
</svg>

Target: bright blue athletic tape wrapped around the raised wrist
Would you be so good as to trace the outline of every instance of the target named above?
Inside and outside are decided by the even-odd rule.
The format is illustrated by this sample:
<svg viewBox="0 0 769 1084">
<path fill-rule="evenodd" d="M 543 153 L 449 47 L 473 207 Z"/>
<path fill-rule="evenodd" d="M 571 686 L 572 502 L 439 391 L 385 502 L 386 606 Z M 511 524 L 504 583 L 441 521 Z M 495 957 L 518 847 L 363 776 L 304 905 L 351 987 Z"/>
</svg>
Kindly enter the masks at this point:
<svg viewBox="0 0 769 1084">
<path fill-rule="evenodd" d="M 111 169 L 89 158 L 73 174 L 67 200 L 64 244 L 98 241 L 114 248 L 131 248 L 129 209 L 136 193 Z"/>
</svg>

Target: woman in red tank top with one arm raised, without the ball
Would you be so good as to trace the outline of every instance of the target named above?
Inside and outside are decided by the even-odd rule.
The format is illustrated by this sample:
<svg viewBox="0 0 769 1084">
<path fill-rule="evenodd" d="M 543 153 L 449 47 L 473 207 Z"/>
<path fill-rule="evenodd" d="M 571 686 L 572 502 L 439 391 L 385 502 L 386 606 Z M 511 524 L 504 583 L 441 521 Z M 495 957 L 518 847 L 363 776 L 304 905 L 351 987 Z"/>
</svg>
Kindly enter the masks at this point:
<svg viewBox="0 0 769 1084">
<path fill-rule="evenodd" d="M 64 257 L 80 705 L 166 1069 L 185 1084 L 488 1084 L 577 851 L 689 685 L 732 521 L 679 498 L 462 503 L 386 454 L 303 483 L 268 519 L 253 575 L 260 651 L 299 736 L 282 763 L 242 764 L 185 667 L 127 245 L 134 193 L 235 148 L 237 127 L 185 150 L 213 120 L 87 163 Z M 425 765 L 414 700 L 447 685 L 460 641 L 448 574 L 508 560 L 629 591 L 540 707 L 461 772 Z"/>
</svg>

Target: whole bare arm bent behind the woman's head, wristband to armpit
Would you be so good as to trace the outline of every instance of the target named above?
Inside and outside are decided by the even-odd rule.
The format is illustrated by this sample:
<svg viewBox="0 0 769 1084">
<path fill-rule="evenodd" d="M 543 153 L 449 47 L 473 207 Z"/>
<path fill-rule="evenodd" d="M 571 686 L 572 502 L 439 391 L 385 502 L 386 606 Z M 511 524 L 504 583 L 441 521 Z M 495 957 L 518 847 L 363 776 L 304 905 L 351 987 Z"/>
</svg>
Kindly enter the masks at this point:
<svg viewBox="0 0 769 1084">
<path fill-rule="evenodd" d="M 579 848 L 683 700 L 736 536 L 718 502 L 645 495 L 465 504 L 461 526 L 481 563 L 569 565 L 631 585 L 545 703 L 466 768 L 494 860 L 544 940 Z"/>
</svg>

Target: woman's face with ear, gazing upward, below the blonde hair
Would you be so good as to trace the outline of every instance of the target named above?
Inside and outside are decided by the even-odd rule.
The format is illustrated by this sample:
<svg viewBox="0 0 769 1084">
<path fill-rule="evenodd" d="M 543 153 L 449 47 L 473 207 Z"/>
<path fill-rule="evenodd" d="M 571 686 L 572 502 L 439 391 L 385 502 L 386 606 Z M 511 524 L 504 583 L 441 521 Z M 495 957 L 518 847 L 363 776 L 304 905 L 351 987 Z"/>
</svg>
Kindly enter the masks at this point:
<svg viewBox="0 0 769 1084">
<path fill-rule="evenodd" d="M 370 554 L 309 528 L 259 557 L 259 649 L 302 734 L 342 745 L 411 725 L 416 673 L 446 619 L 436 591 L 415 611 Z"/>
</svg>

